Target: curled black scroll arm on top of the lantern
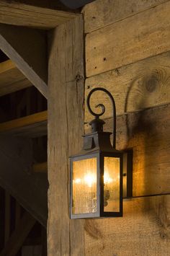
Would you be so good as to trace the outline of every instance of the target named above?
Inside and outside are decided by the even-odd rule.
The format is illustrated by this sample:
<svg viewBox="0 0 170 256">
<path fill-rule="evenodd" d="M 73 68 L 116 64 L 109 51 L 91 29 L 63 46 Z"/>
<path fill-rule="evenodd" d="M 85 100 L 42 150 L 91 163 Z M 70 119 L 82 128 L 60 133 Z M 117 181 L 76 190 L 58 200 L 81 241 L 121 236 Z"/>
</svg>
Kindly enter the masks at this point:
<svg viewBox="0 0 170 256">
<path fill-rule="evenodd" d="M 99 122 L 99 117 L 104 115 L 104 112 L 105 112 L 105 107 L 103 104 L 98 104 L 96 105 L 95 107 L 100 107 L 102 109 L 102 112 L 100 113 L 96 113 L 94 112 L 93 110 L 91 110 L 91 106 L 90 106 L 90 98 L 91 98 L 91 94 L 93 94 L 93 92 L 96 92 L 96 91 L 102 91 L 102 92 L 105 92 L 111 102 L 112 102 L 112 115 L 113 115 L 113 148 L 115 149 L 116 147 L 116 105 L 115 105 L 115 100 L 114 98 L 112 97 L 112 94 L 107 91 L 107 89 L 104 89 L 102 87 L 97 87 L 97 88 L 94 88 L 94 89 L 91 89 L 91 92 L 89 92 L 87 98 L 86 98 L 86 105 L 88 107 L 88 110 L 89 112 L 91 113 L 91 115 L 94 115 L 95 116 L 95 119 L 98 120 Z M 92 121 L 93 122 L 93 121 Z"/>
</svg>

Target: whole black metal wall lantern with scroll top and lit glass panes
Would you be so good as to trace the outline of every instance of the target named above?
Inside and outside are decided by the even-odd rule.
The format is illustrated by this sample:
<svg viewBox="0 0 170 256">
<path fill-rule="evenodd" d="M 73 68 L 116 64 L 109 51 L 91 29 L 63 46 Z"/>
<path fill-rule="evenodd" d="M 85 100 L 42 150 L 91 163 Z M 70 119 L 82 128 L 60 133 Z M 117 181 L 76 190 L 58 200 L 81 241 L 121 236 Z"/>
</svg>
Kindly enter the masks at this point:
<svg viewBox="0 0 170 256">
<path fill-rule="evenodd" d="M 95 91 L 106 92 L 113 107 L 112 133 L 104 132 L 104 120 L 91 110 L 90 97 Z M 91 133 L 84 135 L 84 146 L 79 154 L 71 156 L 71 219 L 122 216 L 122 164 L 123 152 L 115 149 L 116 107 L 112 94 L 104 88 L 92 89 L 87 106 L 95 119 L 89 123 Z"/>
</svg>

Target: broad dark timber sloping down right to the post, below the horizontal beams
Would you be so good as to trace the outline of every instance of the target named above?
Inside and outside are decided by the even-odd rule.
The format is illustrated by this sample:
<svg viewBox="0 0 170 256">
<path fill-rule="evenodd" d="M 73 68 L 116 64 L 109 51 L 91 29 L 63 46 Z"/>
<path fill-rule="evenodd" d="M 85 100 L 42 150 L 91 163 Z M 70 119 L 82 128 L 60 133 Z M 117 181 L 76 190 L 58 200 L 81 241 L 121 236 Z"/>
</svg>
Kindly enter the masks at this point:
<svg viewBox="0 0 170 256">
<path fill-rule="evenodd" d="M 32 172 L 31 139 L 0 136 L 0 159 L 0 186 L 46 226 L 48 179 Z"/>
</svg>

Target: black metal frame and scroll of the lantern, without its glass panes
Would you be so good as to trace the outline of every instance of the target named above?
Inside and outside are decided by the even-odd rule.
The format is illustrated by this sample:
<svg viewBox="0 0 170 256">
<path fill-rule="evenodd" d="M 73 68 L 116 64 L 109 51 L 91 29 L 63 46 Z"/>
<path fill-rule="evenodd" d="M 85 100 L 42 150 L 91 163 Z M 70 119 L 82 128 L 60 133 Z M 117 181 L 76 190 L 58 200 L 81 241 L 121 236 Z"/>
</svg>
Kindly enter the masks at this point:
<svg viewBox="0 0 170 256">
<path fill-rule="evenodd" d="M 90 107 L 90 97 L 93 92 L 102 91 L 105 92 L 112 101 L 112 114 L 113 114 L 113 142 L 110 142 L 110 132 L 103 131 L 104 120 L 99 119 L 105 112 L 105 107 L 102 104 L 96 107 L 101 107 L 102 112 L 95 113 Z M 122 178 L 123 178 L 123 151 L 117 151 L 116 145 L 116 107 L 115 100 L 107 89 L 97 87 L 89 92 L 86 100 L 87 107 L 91 115 L 94 115 L 95 119 L 89 124 L 91 125 L 91 133 L 84 135 L 84 146 L 79 154 L 71 156 L 71 186 L 70 186 L 70 217 L 71 219 L 92 219 L 99 217 L 120 217 L 122 216 Z M 104 156 L 116 157 L 120 159 L 120 211 L 104 211 Z M 94 213 L 73 213 L 73 162 L 81 159 L 91 159 L 97 157 L 97 211 Z"/>
</svg>

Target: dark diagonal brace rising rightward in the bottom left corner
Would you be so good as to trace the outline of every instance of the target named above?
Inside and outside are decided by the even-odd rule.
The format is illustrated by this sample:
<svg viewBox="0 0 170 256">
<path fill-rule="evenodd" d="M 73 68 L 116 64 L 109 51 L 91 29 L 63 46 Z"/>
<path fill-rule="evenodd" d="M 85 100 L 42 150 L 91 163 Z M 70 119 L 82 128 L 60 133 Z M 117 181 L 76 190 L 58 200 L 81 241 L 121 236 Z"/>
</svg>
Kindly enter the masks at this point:
<svg viewBox="0 0 170 256">
<path fill-rule="evenodd" d="M 4 250 L 0 253 L 0 256 L 15 256 L 22 247 L 24 240 L 27 238 L 32 227 L 35 225 L 35 219 L 25 212 L 22 219 L 19 221 L 18 226 L 14 230 L 12 236 L 9 238 Z"/>
</svg>

